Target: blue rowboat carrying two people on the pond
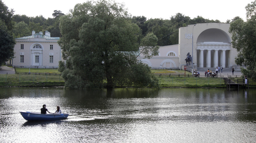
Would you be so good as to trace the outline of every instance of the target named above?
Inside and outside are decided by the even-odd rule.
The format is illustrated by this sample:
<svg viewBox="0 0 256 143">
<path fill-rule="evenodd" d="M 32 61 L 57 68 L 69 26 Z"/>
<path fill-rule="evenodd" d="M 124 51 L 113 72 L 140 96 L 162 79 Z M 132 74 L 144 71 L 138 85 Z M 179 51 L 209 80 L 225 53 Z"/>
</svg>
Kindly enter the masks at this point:
<svg viewBox="0 0 256 143">
<path fill-rule="evenodd" d="M 28 121 L 39 121 L 39 120 L 61 120 L 66 119 L 69 114 L 41 114 L 34 112 L 20 112 L 22 117 Z"/>
</svg>

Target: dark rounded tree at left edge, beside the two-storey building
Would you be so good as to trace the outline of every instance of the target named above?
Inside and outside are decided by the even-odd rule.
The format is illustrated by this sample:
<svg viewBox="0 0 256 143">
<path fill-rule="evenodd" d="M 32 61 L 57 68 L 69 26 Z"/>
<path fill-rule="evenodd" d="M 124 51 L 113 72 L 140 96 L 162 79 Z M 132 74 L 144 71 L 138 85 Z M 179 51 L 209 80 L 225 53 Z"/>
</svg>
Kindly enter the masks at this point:
<svg viewBox="0 0 256 143">
<path fill-rule="evenodd" d="M 15 40 L 7 26 L 0 20 L 0 65 L 14 56 Z"/>
</svg>

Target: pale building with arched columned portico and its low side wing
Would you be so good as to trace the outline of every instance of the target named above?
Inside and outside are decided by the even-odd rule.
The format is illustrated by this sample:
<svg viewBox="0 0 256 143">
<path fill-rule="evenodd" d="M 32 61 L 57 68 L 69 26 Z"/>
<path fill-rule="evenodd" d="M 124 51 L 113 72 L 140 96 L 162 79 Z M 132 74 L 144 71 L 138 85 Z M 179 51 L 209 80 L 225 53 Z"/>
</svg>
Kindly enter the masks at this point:
<svg viewBox="0 0 256 143">
<path fill-rule="evenodd" d="M 159 56 L 150 59 L 139 57 L 143 63 L 158 69 L 184 69 L 187 54 L 193 54 L 193 69 L 215 69 L 236 67 L 236 49 L 231 45 L 231 34 L 227 23 L 199 23 L 179 28 L 179 44 L 159 48 Z M 193 40 L 193 52 L 192 52 Z M 174 54 L 169 54 L 174 53 Z M 169 55 L 169 56 L 168 56 Z M 177 61 L 178 60 L 178 61 Z M 189 66 L 192 67 L 192 64 Z"/>
</svg>

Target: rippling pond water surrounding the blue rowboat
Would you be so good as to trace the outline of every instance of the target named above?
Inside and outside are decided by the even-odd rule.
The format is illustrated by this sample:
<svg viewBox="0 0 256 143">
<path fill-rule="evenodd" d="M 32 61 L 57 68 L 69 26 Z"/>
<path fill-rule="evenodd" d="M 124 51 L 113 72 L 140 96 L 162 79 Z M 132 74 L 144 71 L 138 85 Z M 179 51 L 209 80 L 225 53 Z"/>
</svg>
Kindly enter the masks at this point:
<svg viewBox="0 0 256 143">
<path fill-rule="evenodd" d="M 255 89 L 0 88 L 1 142 L 254 142 Z M 26 121 L 19 111 L 67 119 Z"/>
</svg>

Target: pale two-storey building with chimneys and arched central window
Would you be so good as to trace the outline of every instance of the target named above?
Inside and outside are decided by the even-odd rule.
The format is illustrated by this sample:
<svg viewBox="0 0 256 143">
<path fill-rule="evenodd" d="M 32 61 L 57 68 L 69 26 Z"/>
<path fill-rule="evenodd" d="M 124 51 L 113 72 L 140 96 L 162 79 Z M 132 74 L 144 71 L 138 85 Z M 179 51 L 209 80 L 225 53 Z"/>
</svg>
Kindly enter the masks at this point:
<svg viewBox="0 0 256 143">
<path fill-rule="evenodd" d="M 59 37 L 50 37 L 50 32 L 35 33 L 31 36 L 15 38 L 13 67 L 58 68 L 61 57 L 61 48 L 58 45 Z"/>
</svg>

